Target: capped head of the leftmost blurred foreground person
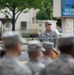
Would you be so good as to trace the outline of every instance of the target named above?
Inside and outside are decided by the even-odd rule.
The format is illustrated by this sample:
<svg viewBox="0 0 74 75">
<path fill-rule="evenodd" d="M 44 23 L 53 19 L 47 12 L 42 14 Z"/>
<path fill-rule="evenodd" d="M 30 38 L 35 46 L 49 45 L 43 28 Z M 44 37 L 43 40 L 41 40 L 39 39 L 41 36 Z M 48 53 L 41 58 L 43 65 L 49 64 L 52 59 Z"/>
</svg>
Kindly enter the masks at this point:
<svg viewBox="0 0 74 75">
<path fill-rule="evenodd" d="M 6 50 L 22 50 L 22 36 L 14 31 L 5 32 L 3 35 L 3 44 Z"/>
</svg>

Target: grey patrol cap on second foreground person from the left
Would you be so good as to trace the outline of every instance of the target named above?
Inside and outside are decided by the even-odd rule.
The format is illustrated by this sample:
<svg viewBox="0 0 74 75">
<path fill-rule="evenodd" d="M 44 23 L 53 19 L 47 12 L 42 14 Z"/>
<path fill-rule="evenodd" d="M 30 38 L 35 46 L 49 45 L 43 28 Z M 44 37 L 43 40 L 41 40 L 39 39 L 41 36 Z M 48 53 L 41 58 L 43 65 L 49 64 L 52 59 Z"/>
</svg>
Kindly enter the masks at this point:
<svg viewBox="0 0 74 75">
<path fill-rule="evenodd" d="M 28 51 L 36 52 L 38 50 L 45 51 L 40 41 L 33 40 L 28 42 Z"/>
</svg>

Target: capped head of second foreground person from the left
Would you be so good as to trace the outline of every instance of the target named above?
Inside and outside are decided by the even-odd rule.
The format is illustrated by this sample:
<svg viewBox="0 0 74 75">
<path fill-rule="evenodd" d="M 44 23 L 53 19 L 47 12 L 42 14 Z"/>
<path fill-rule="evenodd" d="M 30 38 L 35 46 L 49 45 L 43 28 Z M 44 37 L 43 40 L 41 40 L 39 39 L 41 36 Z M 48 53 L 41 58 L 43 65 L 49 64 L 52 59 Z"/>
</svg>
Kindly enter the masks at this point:
<svg viewBox="0 0 74 75">
<path fill-rule="evenodd" d="M 33 40 L 28 42 L 28 53 L 30 58 L 41 58 L 42 51 L 45 51 L 45 49 L 42 47 L 40 41 Z"/>
</svg>

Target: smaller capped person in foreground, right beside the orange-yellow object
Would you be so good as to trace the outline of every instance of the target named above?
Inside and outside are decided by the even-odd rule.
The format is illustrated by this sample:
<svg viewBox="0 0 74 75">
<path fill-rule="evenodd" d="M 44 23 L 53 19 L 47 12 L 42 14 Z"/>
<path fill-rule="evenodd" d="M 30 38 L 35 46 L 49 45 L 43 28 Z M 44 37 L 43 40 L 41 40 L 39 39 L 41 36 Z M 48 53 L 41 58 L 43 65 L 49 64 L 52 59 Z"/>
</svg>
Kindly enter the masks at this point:
<svg viewBox="0 0 74 75">
<path fill-rule="evenodd" d="M 51 42 L 43 42 L 43 48 L 45 48 L 45 51 L 43 52 L 44 56 L 42 57 L 41 62 L 44 65 L 48 65 L 52 62 L 53 52 L 55 50 L 54 44 Z"/>
</svg>

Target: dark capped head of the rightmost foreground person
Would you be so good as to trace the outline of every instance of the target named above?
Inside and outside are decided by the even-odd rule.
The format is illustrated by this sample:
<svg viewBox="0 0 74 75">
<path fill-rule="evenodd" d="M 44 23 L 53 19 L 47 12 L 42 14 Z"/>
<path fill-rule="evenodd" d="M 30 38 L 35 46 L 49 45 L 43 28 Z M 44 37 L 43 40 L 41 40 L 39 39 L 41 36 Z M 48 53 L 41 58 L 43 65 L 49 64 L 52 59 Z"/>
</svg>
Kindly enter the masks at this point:
<svg viewBox="0 0 74 75">
<path fill-rule="evenodd" d="M 58 48 L 61 53 L 71 54 L 74 51 L 74 36 L 64 35 L 58 39 Z"/>
</svg>

